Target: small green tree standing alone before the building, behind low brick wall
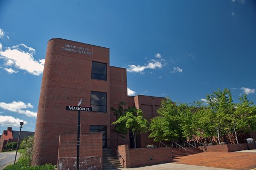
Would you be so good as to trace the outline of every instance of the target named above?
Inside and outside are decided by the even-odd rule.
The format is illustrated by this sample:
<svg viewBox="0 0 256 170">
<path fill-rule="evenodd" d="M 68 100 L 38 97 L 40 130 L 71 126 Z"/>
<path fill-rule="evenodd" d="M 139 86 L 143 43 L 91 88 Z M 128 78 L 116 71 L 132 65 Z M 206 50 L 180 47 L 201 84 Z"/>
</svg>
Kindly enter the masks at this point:
<svg viewBox="0 0 256 170">
<path fill-rule="evenodd" d="M 148 121 L 143 117 L 143 112 L 135 107 L 128 108 L 126 113 L 112 124 L 125 124 L 125 128 L 133 134 L 134 148 L 136 148 L 137 135 L 148 130 Z"/>
</svg>

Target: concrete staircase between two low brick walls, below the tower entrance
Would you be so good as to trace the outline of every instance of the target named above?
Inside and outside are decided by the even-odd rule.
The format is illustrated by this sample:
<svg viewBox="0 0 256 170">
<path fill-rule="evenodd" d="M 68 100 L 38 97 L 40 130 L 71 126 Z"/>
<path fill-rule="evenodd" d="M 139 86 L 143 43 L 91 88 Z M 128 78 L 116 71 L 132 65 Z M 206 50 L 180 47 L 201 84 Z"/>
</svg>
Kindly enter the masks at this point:
<svg viewBox="0 0 256 170">
<path fill-rule="evenodd" d="M 103 156 L 103 165 L 102 169 L 119 169 L 123 168 L 122 164 L 117 159 L 117 156 L 114 154 L 111 148 L 102 148 L 102 156 Z"/>
</svg>

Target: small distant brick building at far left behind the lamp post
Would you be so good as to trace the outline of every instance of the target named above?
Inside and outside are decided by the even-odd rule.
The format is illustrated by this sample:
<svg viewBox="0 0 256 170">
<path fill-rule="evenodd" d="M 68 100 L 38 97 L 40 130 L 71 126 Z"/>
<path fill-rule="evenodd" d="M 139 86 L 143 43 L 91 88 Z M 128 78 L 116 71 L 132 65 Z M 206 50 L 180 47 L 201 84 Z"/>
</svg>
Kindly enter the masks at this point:
<svg viewBox="0 0 256 170">
<path fill-rule="evenodd" d="M 0 137 L 0 152 L 5 149 L 5 145 L 10 142 L 17 142 L 19 138 L 20 131 L 13 131 L 12 127 L 8 127 L 7 130 L 4 130 Z M 35 132 L 21 131 L 20 132 L 20 140 L 22 141 L 24 138 L 29 137 L 30 135 L 34 135 Z"/>
</svg>

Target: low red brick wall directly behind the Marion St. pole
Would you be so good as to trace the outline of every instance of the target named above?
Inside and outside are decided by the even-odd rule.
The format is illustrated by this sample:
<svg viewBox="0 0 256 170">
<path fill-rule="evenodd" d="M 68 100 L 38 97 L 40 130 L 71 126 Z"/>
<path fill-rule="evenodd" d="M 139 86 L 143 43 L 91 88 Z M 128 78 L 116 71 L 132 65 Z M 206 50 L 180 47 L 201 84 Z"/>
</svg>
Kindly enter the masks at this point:
<svg viewBox="0 0 256 170">
<path fill-rule="evenodd" d="M 102 169 L 102 133 L 80 135 L 79 167 Z M 58 169 L 76 169 L 77 134 L 60 133 Z"/>
</svg>

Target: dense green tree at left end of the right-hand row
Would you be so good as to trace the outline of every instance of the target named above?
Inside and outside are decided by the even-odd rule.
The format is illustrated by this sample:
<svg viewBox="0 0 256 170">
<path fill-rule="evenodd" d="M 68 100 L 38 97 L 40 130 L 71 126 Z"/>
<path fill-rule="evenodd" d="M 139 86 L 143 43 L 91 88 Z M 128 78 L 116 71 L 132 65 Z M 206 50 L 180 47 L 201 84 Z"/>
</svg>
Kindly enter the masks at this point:
<svg viewBox="0 0 256 170">
<path fill-rule="evenodd" d="M 161 107 L 157 109 L 159 116 L 150 120 L 150 138 L 154 141 L 178 140 L 182 137 L 180 127 L 180 115 L 178 107 L 170 98 L 161 101 Z"/>
</svg>

